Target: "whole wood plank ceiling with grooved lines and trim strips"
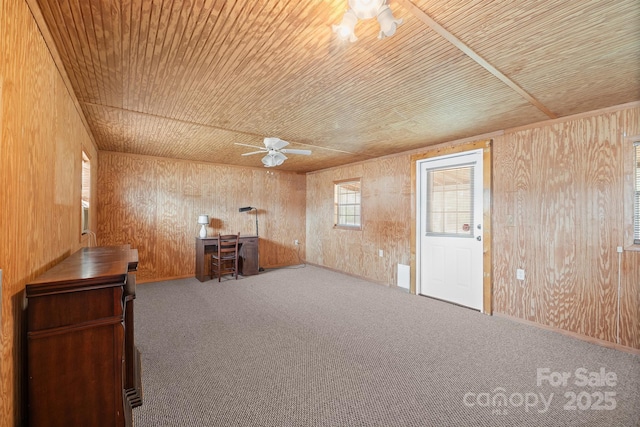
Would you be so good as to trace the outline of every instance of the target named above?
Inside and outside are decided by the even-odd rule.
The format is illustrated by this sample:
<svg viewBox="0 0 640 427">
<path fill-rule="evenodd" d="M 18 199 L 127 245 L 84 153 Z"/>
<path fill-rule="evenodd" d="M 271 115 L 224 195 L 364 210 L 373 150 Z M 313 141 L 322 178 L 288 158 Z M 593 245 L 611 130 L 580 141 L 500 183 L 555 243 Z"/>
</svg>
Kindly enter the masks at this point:
<svg viewBox="0 0 640 427">
<path fill-rule="evenodd" d="M 640 100 L 638 0 L 28 0 L 100 150 L 308 172 Z M 57 53 L 56 53 L 57 52 Z"/>
</svg>

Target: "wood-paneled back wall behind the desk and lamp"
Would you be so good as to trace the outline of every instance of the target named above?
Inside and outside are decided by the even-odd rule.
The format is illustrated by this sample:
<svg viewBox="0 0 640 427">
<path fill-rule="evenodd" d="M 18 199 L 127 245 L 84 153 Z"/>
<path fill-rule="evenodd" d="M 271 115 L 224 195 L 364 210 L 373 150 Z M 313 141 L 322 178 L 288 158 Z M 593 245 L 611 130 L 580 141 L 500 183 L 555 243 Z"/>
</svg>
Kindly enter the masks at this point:
<svg viewBox="0 0 640 427">
<path fill-rule="evenodd" d="M 305 257 L 304 175 L 106 151 L 98 175 L 98 243 L 137 248 L 140 282 L 195 274 L 200 214 L 209 235 L 255 235 L 255 211 L 243 206 L 258 208 L 262 267 Z"/>
</svg>

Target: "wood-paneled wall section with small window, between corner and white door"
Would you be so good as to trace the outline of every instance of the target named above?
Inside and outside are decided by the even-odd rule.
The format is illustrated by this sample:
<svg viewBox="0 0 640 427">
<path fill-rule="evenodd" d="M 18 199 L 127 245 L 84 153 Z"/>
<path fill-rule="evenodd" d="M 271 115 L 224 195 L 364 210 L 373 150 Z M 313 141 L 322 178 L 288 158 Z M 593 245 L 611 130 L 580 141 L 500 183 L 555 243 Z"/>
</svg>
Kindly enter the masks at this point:
<svg viewBox="0 0 640 427">
<path fill-rule="evenodd" d="M 410 263 L 410 167 L 399 155 L 307 174 L 307 260 L 395 286 Z M 349 178 L 362 180 L 361 230 L 333 227 L 334 181 Z"/>
</svg>

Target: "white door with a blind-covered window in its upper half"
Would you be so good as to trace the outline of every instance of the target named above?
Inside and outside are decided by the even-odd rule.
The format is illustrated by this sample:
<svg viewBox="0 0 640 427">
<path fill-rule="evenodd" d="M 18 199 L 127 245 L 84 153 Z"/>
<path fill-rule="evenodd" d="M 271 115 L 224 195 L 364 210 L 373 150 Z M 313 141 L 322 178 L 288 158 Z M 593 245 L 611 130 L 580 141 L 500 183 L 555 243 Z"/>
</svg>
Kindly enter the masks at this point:
<svg viewBox="0 0 640 427">
<path fill-rule="evenodd" d="M 482 311 L 482 150 L 417 163 L 417 293 Z"/>
</svg>

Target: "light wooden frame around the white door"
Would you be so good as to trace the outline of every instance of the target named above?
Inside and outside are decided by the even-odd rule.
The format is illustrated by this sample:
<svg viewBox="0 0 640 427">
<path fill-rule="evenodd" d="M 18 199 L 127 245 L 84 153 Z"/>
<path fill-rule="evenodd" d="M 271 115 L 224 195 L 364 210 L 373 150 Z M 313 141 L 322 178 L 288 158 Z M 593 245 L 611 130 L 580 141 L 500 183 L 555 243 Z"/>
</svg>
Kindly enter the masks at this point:
<svg viewBox="0 0 640 427">
<path fill-rule="evenodd" d="M 491 262 L 491 177 L 492 177 L 492 164 L 491 164 L 491 143 L 490 139 L 475 141 L 467 144 L 456 145 L 453 147 L 440 147 L 433 150 L 426 151 L 420 154 L 414 154 L 411 156 L 411 283 L 409 291 L 412 294 L 416 294 L 417 290 L 417 264 L 416 264 L 416 245 L 417 245 L 417 232 L 419 229 L 417 221 L 417 180 L 420 179 L 417 173 L 418 161 L 446 156 L 456 153 L 462 153 L 465 151 L 482 149 L 483 156 L 483 177 L 482 177 L 482 195 L 483 195 L 483 230 L 482 230 L 482 311 L 486 314 L 493 313 L 493 274 L 492 274 L 492 262 Z"/>
</svg>

